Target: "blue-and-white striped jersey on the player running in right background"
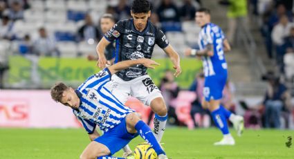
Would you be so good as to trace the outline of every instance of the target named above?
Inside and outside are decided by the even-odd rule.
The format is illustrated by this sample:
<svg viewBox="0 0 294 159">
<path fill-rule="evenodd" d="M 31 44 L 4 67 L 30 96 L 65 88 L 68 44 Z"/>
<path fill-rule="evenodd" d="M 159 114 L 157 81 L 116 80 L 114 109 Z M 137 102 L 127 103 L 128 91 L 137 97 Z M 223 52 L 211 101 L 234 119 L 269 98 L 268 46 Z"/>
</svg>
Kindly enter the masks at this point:
<svg viewBox="0 0 294 159">
<path fill-rule="evenodd" d="M 225 35 L 221 28 L 215 24 L 205 24 L 199 33 L 199 48 L 205 49 L 208 44 L 212 44 L 214 55 L 212 57 L 202 57 L 203 72 L 205 77 L 221 75 L 227 71 L 227 63 L 223 54 L 223 39 Z"/>
</svg>

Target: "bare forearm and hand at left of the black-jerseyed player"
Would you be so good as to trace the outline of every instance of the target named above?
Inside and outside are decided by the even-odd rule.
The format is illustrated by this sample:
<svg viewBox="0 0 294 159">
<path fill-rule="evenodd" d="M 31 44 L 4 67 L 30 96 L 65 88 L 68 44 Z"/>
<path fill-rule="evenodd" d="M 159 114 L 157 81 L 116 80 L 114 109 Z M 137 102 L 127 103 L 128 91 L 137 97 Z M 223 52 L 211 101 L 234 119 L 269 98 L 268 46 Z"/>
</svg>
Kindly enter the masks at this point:
<svg viewBox="0 0 294 159">
<path fill-rule="evenodd" d="M 99 43 L 96 46 L 96 52 L 98 54 L 98 62 L 97 62 L 97 66 L 99 68 L 105 68 L 106 64 L 108 64 L 109 62 L 107 62 L 107 59 L 104 55 L 104 50 L 106 48 L 107 45 L 109 45 L 110 42 L 105 39 L 105 37 L 102 37 L 102 39 L 99 41 Z"/>
</svg>

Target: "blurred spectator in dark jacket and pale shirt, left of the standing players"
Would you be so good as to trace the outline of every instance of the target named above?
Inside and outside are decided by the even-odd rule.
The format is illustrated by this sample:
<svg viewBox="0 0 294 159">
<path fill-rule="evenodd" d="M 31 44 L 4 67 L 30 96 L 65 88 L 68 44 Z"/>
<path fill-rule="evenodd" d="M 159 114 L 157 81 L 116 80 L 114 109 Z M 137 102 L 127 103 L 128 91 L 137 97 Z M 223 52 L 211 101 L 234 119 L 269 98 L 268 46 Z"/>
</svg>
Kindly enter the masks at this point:
<svg viewBox="0 0 294 159">
<path fill-rule="evenodd" d="M 77 34 L 79 41 L 85 41 L 88 44 L 94 44 L 100 39 L 100 32 L 93 23 L 91 15 L 86 14 L 84 25 L 78 29 Z"/>
</svg>

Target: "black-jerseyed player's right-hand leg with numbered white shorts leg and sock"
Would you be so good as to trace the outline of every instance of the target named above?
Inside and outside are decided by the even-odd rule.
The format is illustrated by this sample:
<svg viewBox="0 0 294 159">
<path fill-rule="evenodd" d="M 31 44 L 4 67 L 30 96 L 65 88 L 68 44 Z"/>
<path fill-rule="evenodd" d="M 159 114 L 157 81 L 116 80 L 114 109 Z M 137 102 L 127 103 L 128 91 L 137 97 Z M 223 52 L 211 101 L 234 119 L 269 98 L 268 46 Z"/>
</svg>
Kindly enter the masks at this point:
<svg viewBox="0 0 294 159">
<path fill-rule="evenodd" d="M 167 106 L 163 100 L 163 95 L 161 95 L 149 75 L 138 77 L 131 80 L 131 82 L 133 83 L 131 85 L 131 95 L 147 106 L 151 106 L 152 111 L 155 113 L 154 135 L 156 140 L 160 142 L 167 122 Z"/>
</svg>

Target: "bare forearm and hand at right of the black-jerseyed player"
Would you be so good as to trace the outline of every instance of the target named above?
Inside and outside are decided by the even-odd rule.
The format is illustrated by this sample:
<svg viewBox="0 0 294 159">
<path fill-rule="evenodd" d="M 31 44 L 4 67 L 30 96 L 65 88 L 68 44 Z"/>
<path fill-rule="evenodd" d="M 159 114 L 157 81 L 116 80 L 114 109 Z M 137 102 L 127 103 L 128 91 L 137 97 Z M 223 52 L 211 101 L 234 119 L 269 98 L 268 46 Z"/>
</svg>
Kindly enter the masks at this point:
<svg viewBox="0 0 294 159">
<path fill-rule="evenodd" d="M 174 69 L 176 70 L 176 73 L 174 73 L 174 76 L 178 77 L 178 75 L 181 74 L 182 69 L 180 65 L 180 56 L 178 53 L 176 53 L 176 50 L 172 48 L 172 46 L 169 44 L 166 48 L 164 48 L 165 53 L 169 56 L 169 59 L 172 60 L 172 64 L 174 64 Z"/>
</svg>

